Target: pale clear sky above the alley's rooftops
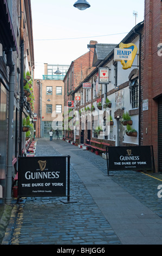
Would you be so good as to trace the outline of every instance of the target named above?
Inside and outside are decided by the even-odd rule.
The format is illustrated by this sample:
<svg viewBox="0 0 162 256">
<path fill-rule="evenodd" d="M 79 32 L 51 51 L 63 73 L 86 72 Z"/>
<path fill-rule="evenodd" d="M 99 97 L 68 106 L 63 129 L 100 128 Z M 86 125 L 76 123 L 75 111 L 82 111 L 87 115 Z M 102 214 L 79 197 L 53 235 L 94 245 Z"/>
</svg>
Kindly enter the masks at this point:
<svg viewBox="0 0 162 256">
<path fill-rule="evenodd" d="M 90 8 L 73 7 L 77 0 L 31 0 L 35 79 L 42 79 L 44 63 L 70 65 L 88 52 L 90 40 L 119 44 L 144 20 L 145 0 L 87 0 Z"/>
</svg>

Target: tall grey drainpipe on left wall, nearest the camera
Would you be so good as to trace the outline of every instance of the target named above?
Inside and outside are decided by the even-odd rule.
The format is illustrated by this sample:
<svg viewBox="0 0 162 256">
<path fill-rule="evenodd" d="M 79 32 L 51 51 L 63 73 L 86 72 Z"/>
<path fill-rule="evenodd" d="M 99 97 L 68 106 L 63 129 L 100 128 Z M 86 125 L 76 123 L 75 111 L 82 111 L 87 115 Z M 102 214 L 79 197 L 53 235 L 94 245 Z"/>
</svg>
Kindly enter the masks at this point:
<svg viewBox="0 0 162 256">
<path fill-rule="evenodd" d="M 9 74 L 9 119 L 8 119 L 8 153 L 7 153 L 7 192 L 5 202 L 11 203 L 12 190 L 12 144 L 14 127 L 14 87 L 15 87 L 15 63 L 12 60 L 12 50 L 7 52 L 7 66 Z"/>
</svg>

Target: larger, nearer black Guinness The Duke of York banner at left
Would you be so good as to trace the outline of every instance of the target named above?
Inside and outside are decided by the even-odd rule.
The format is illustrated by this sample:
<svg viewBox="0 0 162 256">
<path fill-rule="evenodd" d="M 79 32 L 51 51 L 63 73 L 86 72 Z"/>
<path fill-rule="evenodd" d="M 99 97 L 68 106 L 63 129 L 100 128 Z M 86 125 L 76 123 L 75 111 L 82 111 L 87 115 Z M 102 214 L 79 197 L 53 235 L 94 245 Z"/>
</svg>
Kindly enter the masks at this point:
<svg viewBox="0 0 162 256">
<path fill-rule="evenodd" d="M 19 157 L 18 196 L 66 196 L 66 156 Z"/>
</svg>

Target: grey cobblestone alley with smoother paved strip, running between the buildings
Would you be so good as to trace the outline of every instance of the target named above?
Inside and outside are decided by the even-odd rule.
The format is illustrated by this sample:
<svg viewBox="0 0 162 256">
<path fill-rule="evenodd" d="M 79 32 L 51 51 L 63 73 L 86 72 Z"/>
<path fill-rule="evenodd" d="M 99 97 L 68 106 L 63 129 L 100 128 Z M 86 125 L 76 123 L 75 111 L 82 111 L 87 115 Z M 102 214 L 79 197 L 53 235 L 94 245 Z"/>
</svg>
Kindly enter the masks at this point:
<svg viewBox="0 0 162 256">
<path fill-rule="evenodd" d="M 62 140 L 38 139 L 36 156 L 70 155 L 70 200 L 15 204 L 3 245 L 162 244 L 160 175 L 111 172 L 106 160 Z"/>
</svg>

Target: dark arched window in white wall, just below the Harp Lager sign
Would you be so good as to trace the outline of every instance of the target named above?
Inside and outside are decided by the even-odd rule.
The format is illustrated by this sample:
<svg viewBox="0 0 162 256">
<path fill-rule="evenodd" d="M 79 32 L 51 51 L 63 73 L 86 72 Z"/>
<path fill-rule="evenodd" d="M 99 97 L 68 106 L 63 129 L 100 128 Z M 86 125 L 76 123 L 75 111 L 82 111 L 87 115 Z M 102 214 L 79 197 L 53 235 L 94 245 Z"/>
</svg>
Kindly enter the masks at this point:
<svg viewBox="0 0 162 256">
<path fill-rule="evenodd" d="M 132 108 L 138 107 L 138 78 L 131 80 L 129 84 L 130 89 L 130 102 L 132 104 Z"/>
</svg>

